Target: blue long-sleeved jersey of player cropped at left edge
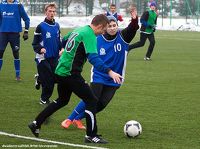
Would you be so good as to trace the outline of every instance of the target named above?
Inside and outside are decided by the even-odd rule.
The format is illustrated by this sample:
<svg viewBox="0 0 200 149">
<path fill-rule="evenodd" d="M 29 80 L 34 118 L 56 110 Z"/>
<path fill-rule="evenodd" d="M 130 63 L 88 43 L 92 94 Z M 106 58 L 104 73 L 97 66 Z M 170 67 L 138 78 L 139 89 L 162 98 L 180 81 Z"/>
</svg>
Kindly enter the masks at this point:
<svg viewBox="0 0 200 149">
<path fill-rule="evenodd" d="M 2 2 L 0 4 L 0 32 L 16 32 L 22 31 L 21 19 L 25 22 L 25 29 L 29 29 L 30 19 L 24 10 L 23 5 L 13 2 L 8 4 Z"/>
</svg>

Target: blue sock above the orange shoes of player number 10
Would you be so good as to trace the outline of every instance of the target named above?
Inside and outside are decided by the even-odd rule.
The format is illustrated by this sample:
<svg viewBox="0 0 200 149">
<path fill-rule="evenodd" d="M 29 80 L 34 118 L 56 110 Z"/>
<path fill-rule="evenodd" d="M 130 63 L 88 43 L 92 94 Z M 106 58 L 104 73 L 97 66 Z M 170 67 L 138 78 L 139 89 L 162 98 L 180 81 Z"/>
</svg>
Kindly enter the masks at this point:
<svg viewBox="0 0 200 149">
<path fill-rule="evenodd" d="M 70 120 L 74 120 L 79 114 L 85 114 L 85 103 L 83 101 L 79 102 L 76 108 L 73 110 L 71 115 L 68 117 Z"/>
</svg>

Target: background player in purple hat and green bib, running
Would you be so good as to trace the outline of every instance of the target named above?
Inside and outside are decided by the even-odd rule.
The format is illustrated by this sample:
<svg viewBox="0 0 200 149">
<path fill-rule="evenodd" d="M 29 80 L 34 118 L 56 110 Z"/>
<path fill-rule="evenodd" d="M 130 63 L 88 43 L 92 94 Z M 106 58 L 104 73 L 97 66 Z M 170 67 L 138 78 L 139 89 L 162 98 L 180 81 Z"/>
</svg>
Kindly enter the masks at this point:
<svg viewBox="0 0 200 149">
<path fill-rule="evenodd" d="M 157 13 L 156 13 L 156 3 L 150 3 L 150 10 L 145 11 L 141 18 L 140 22 L 142 24 L 140 28 L 140 41 L 130 45 L 129 48 L 135 49 L 139 47 L 143 47 L 147 38 L 150 42 L 144 60 L 151 60 L 151 55 L 153 53 L 153 49 L 155 46 L 155 37 L 154 32 L 156 30 L 156 23 L 157 23 Z"/>
</svg>

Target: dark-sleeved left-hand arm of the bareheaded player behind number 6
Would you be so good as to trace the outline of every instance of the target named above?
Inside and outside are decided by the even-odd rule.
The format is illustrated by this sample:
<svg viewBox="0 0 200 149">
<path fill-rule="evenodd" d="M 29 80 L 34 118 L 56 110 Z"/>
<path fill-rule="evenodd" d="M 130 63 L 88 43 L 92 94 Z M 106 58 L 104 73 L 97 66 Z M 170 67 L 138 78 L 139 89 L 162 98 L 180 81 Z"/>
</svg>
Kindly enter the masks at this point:
<svg viewBox="0 0 200 149">
<path fill-rule="evenodd" d="M 38 54 L 43 53 L 41 49 L 43 49 L 44 47 L 40 44 L 41 41 L 42 41 L 41 27 L 40 25 L 38 25 L 34 32 L 34 37 L 33 37 L 33 42 L 32 42 L 33 49 Z"/>
</svg>

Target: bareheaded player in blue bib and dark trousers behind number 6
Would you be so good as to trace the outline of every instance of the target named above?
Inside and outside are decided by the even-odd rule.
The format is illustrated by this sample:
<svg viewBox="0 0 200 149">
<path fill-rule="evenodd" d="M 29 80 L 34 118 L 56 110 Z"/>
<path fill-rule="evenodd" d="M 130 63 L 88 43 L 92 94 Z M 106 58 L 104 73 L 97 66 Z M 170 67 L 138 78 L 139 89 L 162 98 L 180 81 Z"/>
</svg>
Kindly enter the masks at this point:
<svg viewBox="0 0 200 149">
<path fill-rule="evenodd" d="M 46 18 L 41 22 L 35 32 L 33 49 L 36 53 L 36 64 L 39 73 L 42 93 L 40 104 L 48 104 L 54 89 L 54 71 L 58 63 L 62 44 L 60 39 L 60 26 L 55 22 L 56 5 L 45 6 Z"/>
</svg>

